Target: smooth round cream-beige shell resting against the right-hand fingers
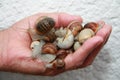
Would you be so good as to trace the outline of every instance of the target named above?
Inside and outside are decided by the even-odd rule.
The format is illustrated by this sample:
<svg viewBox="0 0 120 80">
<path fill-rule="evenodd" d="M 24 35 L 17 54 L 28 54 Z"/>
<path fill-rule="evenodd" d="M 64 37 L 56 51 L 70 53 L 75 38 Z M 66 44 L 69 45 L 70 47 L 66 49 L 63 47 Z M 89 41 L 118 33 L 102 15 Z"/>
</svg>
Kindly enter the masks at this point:
<svg viewBox="0 0 120 80">
<path fill-rule="evenodd" d="M 84 43 L 87 39 L 91 38 L 94 35 L 95 33 L 93 32 L 93 30 L 89 28 L 83 29 L 78 35 L 79 43 Z"/>
</svg>

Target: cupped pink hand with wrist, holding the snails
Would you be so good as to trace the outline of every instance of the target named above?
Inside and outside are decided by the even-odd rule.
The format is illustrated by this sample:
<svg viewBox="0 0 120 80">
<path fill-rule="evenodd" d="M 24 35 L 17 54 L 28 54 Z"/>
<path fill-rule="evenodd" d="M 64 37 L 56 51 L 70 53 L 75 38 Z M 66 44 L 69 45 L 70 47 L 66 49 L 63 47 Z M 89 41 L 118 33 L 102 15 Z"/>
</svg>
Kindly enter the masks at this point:
<svg viewBox="0 0 120 80">
<path fill-rule="evenodd" d="M 34 27 L 41 16 L 54 18 L 55 27 L 67 26 L 72 20 L 82 23 L 82 18 L 65 13 L 39 13 L 27 17 L 12 27 L 0 32 L 0 70 L 38 75 L 56 75 L 67 70 L 83 68 L 92 64 L 98 52 L 107 42 L 111 27 L 107 24 L 97 34 L 87 40 L 76 52 L 65 58 L 64 70 L 45 71 L 43 63 L 31 58 L 31 38 L 28 28 Z"/>
</svg>

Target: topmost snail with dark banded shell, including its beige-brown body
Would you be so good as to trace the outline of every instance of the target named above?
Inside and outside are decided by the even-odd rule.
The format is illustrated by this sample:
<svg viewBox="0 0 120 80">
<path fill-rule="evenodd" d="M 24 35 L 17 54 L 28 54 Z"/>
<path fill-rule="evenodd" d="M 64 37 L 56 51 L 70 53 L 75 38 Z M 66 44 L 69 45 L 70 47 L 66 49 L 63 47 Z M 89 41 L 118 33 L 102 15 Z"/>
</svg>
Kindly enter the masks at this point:
<svg viewBox="0 0 120 80">
<path fill-rule="evenodd" d="M 53 42 L 56 39 L 54 26 L 54 19 L 42 16 L 37 20 L 35 28 L 29 28 L 28 32 L 32 41 L 44 40 L 47 42 Z"/>
</svg>

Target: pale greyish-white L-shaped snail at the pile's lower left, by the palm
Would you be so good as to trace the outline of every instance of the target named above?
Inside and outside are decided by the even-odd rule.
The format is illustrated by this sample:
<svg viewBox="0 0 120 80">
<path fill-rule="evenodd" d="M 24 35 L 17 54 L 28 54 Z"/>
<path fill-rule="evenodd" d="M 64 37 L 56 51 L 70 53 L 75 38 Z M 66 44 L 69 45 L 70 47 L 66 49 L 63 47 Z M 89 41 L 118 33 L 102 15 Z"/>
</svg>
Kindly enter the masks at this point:
<svg viewBox="0 0 120 80">
<path fill-rule="evenodd" d="M 42 47 L 45 44 L 44 41 L 33 41 L 31 44 L 32 58 L 38 58 L 44 62 L 51 62 L 56 58 L 56 55 L 42 53 Z"/>
</svg>

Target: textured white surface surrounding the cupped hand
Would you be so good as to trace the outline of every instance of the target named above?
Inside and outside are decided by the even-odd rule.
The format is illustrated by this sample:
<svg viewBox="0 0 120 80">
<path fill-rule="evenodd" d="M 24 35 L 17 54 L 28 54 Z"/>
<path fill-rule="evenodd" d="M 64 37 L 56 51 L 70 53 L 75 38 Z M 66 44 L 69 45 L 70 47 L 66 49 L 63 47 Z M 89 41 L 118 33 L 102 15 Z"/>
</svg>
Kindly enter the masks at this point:
<svg viewBox="0 0 120 80">
<path fill-rule="evenodd" d="M 104 20 L 113 31 L 90 67 L 55 77 L 0 72 L 0 80 L 120 80 L 120 0 L 0 0 L 0 28 L 38 12 L 80 15 L 84 23 Z"/>
</svg>

